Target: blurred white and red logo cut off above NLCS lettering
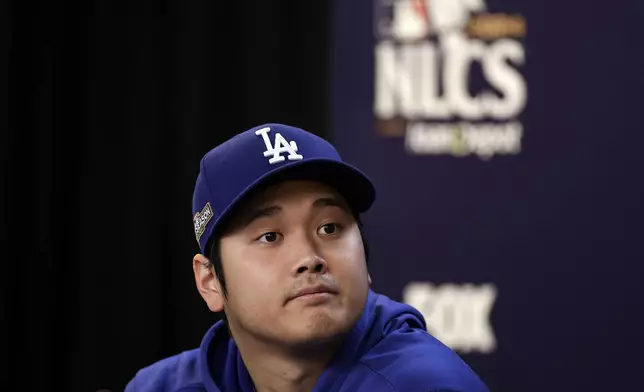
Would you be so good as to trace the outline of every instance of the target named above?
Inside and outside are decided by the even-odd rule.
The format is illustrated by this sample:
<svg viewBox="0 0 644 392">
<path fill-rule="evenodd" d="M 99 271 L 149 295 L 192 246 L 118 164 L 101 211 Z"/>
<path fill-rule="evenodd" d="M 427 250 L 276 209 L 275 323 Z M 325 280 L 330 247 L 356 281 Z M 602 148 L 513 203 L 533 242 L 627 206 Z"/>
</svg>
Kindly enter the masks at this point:
<svg viewBox="0 0 644 392">
<path fill-rule="evenodd" d="M 412 41 L 462 31 L 471 13 L 485 9 L 485 0 L 396 0 L 391 35 Z"/>
</svg>

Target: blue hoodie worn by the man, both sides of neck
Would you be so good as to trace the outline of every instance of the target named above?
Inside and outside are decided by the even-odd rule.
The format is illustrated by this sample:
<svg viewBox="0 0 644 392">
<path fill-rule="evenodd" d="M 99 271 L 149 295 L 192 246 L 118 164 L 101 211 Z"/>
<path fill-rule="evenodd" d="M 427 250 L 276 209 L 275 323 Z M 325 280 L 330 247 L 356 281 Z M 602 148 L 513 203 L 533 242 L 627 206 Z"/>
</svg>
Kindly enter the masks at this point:
<svg viewBox="0 0 644 392">
<path fill-rule="evenodd" d="M 198 349 L 141 369 L 125 392 L 254 392 L 222 321 Z M 369 291 L 362 317 L 312 392 L 489 392 L 411 306 Z"/>
</svg>

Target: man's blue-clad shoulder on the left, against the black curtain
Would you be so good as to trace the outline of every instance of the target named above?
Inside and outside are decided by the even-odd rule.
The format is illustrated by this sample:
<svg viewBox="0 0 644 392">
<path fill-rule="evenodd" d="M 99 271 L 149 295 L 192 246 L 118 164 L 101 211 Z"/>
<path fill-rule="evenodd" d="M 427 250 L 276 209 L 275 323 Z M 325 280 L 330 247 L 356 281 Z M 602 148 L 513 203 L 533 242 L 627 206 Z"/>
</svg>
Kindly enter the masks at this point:
<svg viewBox="0 0 644 392">
<path fill-rule="evenodd" d="M 204 391 L 201 383 L 199 349 L 163 358 L 136 372 L 125 392 L 192 392 Z"/>
</svg>

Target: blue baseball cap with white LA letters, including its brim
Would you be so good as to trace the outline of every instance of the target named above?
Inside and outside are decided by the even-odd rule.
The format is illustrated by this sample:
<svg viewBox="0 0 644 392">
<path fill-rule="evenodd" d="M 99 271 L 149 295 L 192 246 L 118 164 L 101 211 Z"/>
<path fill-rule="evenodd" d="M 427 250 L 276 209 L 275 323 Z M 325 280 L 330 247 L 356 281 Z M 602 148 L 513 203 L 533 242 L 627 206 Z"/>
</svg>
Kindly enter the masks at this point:
<svg viewBox="0 0 644 392">
<path fill-rule="evenodd" d="M 285 180 L 324 182 L 354 213 L 375 200 L 371 180 L 344 162 L 326 140 L 303 129 L 269 123 L 239 133 L 201 159 L 192 199 L 194 232 L 202 254 L 231 210 L 250 192 Z"/>
</svg>

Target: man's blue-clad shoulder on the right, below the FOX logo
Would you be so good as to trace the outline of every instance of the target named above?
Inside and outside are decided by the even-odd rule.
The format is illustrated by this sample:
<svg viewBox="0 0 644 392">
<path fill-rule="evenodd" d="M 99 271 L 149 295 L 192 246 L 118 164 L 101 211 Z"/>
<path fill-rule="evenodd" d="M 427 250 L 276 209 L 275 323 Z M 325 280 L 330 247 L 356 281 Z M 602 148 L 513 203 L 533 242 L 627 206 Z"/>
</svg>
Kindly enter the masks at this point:
<svg viewBox="0 0 644 392">
<path fill-rule="evenodd" d="M 386 335 L 360 362 L 398 392 L 489 392 L 458 354 L 418 329 Z"/>
</svg>

